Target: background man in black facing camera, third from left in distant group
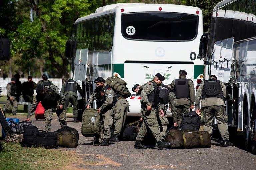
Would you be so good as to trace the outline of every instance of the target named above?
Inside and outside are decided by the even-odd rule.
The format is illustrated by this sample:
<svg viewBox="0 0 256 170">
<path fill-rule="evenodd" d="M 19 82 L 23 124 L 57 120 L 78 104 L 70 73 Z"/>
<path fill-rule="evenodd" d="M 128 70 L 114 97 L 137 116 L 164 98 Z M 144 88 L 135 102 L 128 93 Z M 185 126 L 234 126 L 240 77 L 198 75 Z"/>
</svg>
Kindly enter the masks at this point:
<svg viewBox="0 0 256 170">
<path fill-rule="evenodd" d="M 28 81 L 22 83 L 22 96 L 25 102 L 32 102 L 34 98 L 34 89 L 36 83 L 32 81 L 32 76 L 28 76 Z M 24 111 L 27 111 L 27 105 L 24 105 Z"/>
</svg>

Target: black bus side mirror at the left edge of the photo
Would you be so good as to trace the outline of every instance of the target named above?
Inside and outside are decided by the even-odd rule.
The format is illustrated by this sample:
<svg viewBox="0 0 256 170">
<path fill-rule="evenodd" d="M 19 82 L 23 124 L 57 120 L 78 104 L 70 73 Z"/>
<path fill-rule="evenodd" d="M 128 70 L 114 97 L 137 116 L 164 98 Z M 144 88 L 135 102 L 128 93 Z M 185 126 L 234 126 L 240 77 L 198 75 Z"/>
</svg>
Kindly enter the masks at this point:
<svg viewBox="0 0 256 170">
<path fill-rule="evenodd" d="M 0 60 L 7 61 L 11 59 L 10 40 L 0 37 Z"/>
</svg>

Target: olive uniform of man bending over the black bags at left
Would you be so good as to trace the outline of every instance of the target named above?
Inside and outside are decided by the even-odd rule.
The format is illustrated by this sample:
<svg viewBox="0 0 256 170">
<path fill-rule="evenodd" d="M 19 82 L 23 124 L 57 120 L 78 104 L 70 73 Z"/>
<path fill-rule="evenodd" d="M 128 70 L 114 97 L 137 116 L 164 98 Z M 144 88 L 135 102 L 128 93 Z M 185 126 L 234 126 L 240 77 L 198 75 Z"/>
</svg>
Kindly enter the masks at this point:
<svg viewBox="0 0 256 170">
<path fill-rule="evenodd" d="M 45 86 L 47 88 L 47 86 Z M 42 106 L 44 107 L 44 117 L 45 117 L 45 131 L 49 132 L 51 131 L 51 121 L 52 121 L 52 115 L 54 112 L 56 112 L 57 116 L 59 117 L 59 122 L 61 128 L 64 128 L 67 126 L 67 121 L 66 121 L 66 111 L 63 109 L 57 109 L 57 103 L 60 105 L 64 105 L 65 97 L 64 95 L 60 92 L 60 89 L 58 87 L 51 85 L 49 88 L 47 88 L 47 92 L 49 96 L 57 96 L 57 99 L 52 99 L 52 103 L 47 103 L 44 104 L 46 101 L 45 98 L 41 98 L 40 95 L 36 95 L 35 99 L 33 100 L 31 107 L 28 111 L 28 116 L 27 118 L 30 119 L 31 115 L 34 114 L 36 107 L 38 103 L 41 101 Z M 54 93 L 54 94 L 53 94 Z M 51 96 L 51 97 L 52 97 Z"/>
</svg>

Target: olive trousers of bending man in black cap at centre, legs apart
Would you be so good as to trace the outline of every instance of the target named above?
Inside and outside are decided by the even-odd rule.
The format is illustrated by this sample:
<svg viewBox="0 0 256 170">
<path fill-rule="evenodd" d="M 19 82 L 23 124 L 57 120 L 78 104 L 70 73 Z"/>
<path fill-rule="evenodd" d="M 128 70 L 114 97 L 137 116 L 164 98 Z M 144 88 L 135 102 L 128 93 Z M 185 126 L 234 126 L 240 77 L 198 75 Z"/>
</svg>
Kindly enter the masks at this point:
<svg viewBox="0 0 256 170">
<path fill-rule="evenodd" d="M 160 134 L 160 127 L 156 118 L 156 112 L 157 110 L 154 108 L 151 109 L 151 112 L 147 112 L 145 108 L 141 108 L 141 113 L 144 118 L 136 140 L 142 141 L 147 134 L 147 129 L 152 132 L 156 141 L 165 139 L 165 135 Z"/>
</svg>

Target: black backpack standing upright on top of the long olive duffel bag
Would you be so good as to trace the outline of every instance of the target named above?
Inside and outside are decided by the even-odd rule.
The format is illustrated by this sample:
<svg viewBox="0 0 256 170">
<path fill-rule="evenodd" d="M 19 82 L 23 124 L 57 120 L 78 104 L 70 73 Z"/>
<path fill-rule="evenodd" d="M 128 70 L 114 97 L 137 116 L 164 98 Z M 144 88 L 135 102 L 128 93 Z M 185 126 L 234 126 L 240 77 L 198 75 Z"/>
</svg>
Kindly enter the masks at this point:
<svg viewBox="0 0 256 170">
<path fill-rule="evenodd" d="M 195 111 L 187 112 L 180 124 L 181 130 L 199 130 L 200 128 L 200 116 Z"/>
</svg>

